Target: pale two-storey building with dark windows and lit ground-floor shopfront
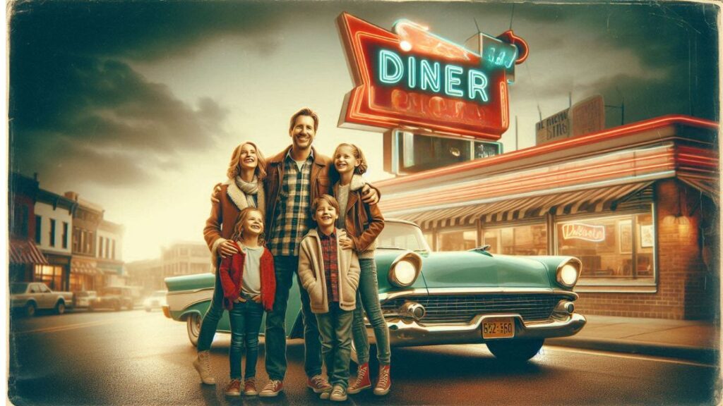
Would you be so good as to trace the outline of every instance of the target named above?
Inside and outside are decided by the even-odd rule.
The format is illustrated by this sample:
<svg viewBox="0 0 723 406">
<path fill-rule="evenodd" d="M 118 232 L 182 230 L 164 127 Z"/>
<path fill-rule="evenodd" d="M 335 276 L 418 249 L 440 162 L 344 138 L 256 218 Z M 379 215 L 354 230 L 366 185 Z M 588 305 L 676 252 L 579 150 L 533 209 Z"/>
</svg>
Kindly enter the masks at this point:
<svg viewBox="0 0 723 406">
<path fill-rule="evenodd" d="M 36 264 L 33 280 L 54 290 L 70 289 L 73 212 L 77 203 L 51 191 L 38 189 L 35 201 L 35 244 L 48 264 Z"/>
</svg>

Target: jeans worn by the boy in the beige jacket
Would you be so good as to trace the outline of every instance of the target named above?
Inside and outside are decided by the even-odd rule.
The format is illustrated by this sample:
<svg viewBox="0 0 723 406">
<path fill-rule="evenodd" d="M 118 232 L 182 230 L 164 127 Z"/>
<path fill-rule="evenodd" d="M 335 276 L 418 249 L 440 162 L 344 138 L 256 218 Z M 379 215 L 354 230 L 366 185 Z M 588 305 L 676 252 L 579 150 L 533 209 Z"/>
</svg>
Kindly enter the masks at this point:
<svg viewBox="0 0 723 406">
<path fill-rule="evenodd" d="M 338 302 L 329 303 L 329 312 L 317 314 L 322 337 L 321 353 L 324 355 L 329 383 L 344 389 L 349 381 L 349 358 L 351 357 L 351 321 L 354 311 L 339 308 Z"/>
</svg>

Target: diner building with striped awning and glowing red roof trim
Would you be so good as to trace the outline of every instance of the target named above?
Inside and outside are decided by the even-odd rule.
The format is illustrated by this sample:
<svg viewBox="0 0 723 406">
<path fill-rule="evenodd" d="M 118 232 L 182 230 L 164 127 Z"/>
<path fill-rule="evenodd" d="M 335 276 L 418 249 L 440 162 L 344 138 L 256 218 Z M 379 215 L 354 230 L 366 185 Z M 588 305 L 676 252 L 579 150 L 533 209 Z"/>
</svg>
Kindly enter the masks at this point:
<svg viewBox="0 0 723 406">
<path fill-rule="evenodd" d="M 663 116 L 375 186 L 432 250 L 578 257 L 583 314 L 712 319 L 718 128 Z"/>
</svg>

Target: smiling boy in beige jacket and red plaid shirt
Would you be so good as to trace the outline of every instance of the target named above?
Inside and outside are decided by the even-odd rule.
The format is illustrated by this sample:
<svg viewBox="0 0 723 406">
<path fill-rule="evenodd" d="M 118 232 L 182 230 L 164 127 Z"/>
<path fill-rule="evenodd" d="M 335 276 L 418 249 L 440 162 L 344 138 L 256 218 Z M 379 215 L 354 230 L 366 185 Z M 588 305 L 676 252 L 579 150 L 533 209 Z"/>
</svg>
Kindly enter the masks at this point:
<svg viewBox="0 0 723 406">
<path fill-rule="evenodd" d="M 331 392 L 322 399 L 346 400 L 351 355 L 351 322 L 356 308 L 359 285 L 359 259 L 352 249 L 343 249 L 339 241 L 346 232 L 335 228 L 339 204 L 324 194 L 312 202 L 312 219 L 317 228 L 309 230 L 299 246 L 299 280 L 309 292 L 312 312 L 317 317 L 322 337 L 322 355 Z"/>
</svg>

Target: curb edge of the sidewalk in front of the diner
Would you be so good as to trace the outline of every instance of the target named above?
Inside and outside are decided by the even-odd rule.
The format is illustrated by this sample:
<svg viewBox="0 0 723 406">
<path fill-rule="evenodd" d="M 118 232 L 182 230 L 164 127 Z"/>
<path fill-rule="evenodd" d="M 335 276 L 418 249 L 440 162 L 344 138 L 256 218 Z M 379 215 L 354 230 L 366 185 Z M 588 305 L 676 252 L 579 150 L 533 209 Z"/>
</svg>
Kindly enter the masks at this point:
<svg viewBox="0 0 723 406">
<path fill-rule="evenodd" d="M 699 363 L 718 365 L 719 350 L 715 348 L 694 347 L 692 345 L 670 345 L 629 340 L 602 340 L 583 337 L 560 337 L 545 340 L 546 345 L 560 347 L 586 348 L 588 350 L 612 351 L 614 353 L 629 353 L 640 355 L 653 355 L 666 358 L 680 358 Z"/>
</svg>

